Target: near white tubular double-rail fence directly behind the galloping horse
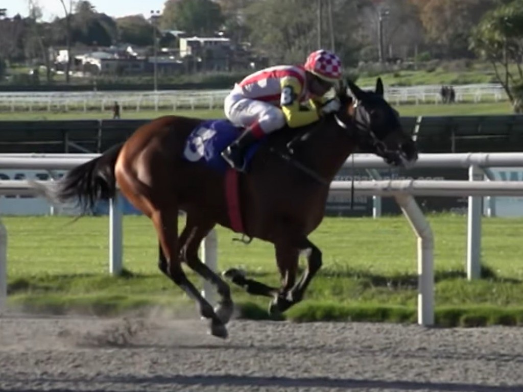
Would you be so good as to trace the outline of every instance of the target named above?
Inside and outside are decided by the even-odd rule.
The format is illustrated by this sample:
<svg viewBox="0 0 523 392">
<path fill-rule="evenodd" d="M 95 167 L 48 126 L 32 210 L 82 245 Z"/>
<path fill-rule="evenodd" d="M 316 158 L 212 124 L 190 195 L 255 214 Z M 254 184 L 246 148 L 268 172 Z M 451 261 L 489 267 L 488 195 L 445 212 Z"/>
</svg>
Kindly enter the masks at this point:
<svg viewBox="0 0 523 392">
<path fill-rule="evenodd" d="M 72 154 L 71 154 L 72 155 Z M 86 162 L 87 157 L 39 156 L 28 157 L 24 154 L 11 156 L 0 155 L 0 168 L 27 169 L 71 169 Z M 92 155 L 94 156 L 94 155 Z M 438 159 L 438 156 L 440 159 Z M 373 156 L 357 155 L 355 166 L 380 167 L 380 160 Z M 89 157 L 90 159 L 90 157 Z M 346 163 L 346 165 L 350 165 Z M 365 166 L 367 165 L 367 166 Z M 523 166 L 523 153 L 492 154 L 422 154 L 415 167 L 469 167 L 471 181 L 425 181 L 425 180 L 377 180 L 355 181 L 357 195 L 374 197 L 392 196 L 400 205 L 418 239 L 418 324 L 434 324 L 434 238 L 428 221 L 419 209 L 414 197 L 431 195 L 441 197 L 469 197 L 468 215 L 468 256 L 467 275 L 469 279 L 480 274 L 481 249 L 481 197 L 523 195 L 523 181 L 477 181 L 477 172 L 482 167 Z M 331 192 L 348 194 L 352 184 L 349 181 L 334 181 Z M 0 181 L 0 194 L 35 194 L 30 183 L 24 180 Z M 119 196 L 110 203 L 110 238 L 109 270 L 117 274 L 122 269 L 122 209 Z M 0 222 L 0 309 L 5 307 L 7 295 L 7 232 Z M 213 269 L 217 269 L 217 238 L 212 232 L 202 244 L 202 258 Z M 214 302 L 211 287 L 204 285 L 204 295 Z"/>
</svg>

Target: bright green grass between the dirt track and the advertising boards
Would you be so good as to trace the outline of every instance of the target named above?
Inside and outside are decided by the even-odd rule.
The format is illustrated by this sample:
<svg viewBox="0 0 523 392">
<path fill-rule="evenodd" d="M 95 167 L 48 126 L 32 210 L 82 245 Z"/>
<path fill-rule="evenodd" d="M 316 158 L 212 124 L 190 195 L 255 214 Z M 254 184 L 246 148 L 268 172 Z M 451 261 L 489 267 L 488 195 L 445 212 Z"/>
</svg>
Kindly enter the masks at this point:
<svg viewBox="0 0 523 392">
<path fill-rule="evenodd" d="M 4 217 L 9 233 L 10 304 L 54 313 L 107 314 L 144 305 L 192 306 L 156 267 L 157 239 L 144 217 L 124 218 L 124 266 L 107 273 L 107 217 Z M 521 324 L 523 322 L 523 220 L 484 218 L 482 260 L 488 278 L 464 279 L 466 218 L 429 217 L 435 233 L 436 318 L 441 325 Z M 218 228 L 219 268 L 241 267 L 249 276 L 279 284 L 270 244 L 233 242 Z M 324 265 L 306 300 L 286 317 L 412 321 L 416 317 L 416 239 L 402 216 L 326 218 L 311 235 Z M 303 265 L 302 261 L 302 265 Z M 200 279 L 189 272 L 190 279 Z M 267 298 L 233 287 L 242 314 L 266 318 Z"/>
</svg>

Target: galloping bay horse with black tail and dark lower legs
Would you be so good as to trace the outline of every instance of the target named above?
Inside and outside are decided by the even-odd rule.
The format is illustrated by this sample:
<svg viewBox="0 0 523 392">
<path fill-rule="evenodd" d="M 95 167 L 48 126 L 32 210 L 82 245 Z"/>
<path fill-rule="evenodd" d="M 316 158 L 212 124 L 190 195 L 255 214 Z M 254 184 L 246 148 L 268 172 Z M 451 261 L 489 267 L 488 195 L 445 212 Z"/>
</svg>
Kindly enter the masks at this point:
<svg viewBox="0 0 523 392">
<path fill-rule="evenodd" d="M 285 312 L 301 301 L 322 266 L 322 253 L 308 235 L 322 222 L 329 184 L 347 157 L 360 148 L 392 165 L 417 159 L 415 143 L 383 98 L 381 79 L 374 91 L 347 83 L 352 96 L 347 85 L 336 88 L 338 112 L 266 136 L 246 174 L 186 159 L 188 137 L 204 120 L 165 116 L 140 126 L 125 143 L 77 166 L 44 191 L 54 202 L 77 201 L 85 214 L 97 200 L 115 197 L 118 186 L 152 220 L 160 270 L 196 301 L 200 315 L 210 320 L 210 333 L 226 338 L 233 312 L 230 287 L 198 257 L 202 239 L 216 224 L 274 244 L 280 288 L 247 279 L 236 269 L 223 275 L 251 294 L 271 297 L 269 312 Z M 223 191 L 225 183 L 232 184 L 235 202 Z M 178 236 L 179 210 L 186 213 L 186 225 Z M 297 280 L 301 252 L 307 267 Z M 183 262 L 217 288 L 215 309 L 188 280 Z"/>
</svg>

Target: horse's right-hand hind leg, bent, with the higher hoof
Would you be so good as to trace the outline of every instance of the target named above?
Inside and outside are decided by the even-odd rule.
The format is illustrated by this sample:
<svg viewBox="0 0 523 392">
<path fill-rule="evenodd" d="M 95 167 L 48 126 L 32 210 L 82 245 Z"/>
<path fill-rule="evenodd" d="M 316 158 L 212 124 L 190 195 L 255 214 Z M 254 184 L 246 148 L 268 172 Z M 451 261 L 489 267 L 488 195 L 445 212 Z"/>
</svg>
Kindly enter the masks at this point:
<svg viewBox="0 0 523 392">
<path fill-rule="evenodd" d="M 200 247 L 201 241 L 209 234 L 213 227 L 214 223 L 212 222 L 195 222 L 192 215 L 188 213 L 187 224 L 180 235 L 180 259 L 185 260 L 192 270 L 216 287 L 221 300 L 214 309 L 214 312 L 220 320 L 222 320 L 223 324 L 227 324 L 234 310 L 231 289 L 227 283 L 220 279 L 220 276 L 214 273 L 206 264 L 202 263 L 198 257 L 198 248 Z"/>
</svg>

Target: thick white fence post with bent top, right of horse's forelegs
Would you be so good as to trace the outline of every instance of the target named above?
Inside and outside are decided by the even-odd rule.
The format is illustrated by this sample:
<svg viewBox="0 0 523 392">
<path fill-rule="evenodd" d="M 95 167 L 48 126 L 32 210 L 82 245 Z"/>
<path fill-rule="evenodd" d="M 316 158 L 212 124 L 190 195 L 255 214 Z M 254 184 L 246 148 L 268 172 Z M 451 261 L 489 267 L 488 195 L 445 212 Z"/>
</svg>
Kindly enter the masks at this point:
<svg viewBox="0 0 523 392">
<path fill-rule="evenodd" d="M 434 235 L 411 195 L 400 193 L 395 199 L 418 239 L 418 324 L 431 326 L 434 325 Z"/>
</svg>

